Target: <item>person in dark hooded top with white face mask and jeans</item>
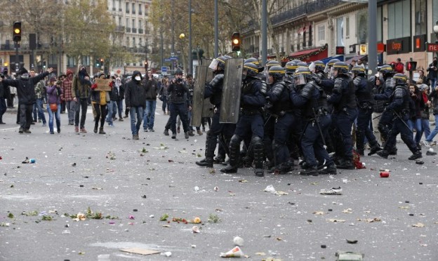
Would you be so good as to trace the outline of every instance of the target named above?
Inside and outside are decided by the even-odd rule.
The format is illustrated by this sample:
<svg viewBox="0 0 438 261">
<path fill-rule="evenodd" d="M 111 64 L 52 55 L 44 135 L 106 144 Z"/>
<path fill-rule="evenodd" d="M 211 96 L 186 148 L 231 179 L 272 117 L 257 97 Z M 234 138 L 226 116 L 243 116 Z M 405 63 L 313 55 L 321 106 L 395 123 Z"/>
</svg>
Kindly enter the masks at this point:
<svg viewBox="0 0 438 261">
<path fill-rule="evenodd" d="M 134 71 L 132 80 L 129 81 L 125 89 L 125 104 L 131 118 L 133 140 L 139 139 L 138 130 L 140 130 L 146 107 L 146 88 L 142 85 L 141 80 L 140 72 Z"/>
</svg>

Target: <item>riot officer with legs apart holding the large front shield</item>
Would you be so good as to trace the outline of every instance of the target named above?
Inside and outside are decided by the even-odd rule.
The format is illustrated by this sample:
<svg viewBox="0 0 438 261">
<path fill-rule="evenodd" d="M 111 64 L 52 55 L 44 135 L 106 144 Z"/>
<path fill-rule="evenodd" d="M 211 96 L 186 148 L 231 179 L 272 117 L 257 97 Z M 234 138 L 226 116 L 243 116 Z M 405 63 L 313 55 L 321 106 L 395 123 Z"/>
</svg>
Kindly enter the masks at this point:
<svg viewBox="0 0 438 261">
<path fill-rule="evenodd" d="M 245 135 L 251 133 L 251 147 L 254 157 L 254 173 L 263 177 L 263 116 L 266 88 L 257 77 L 258 68 L 251 62 L 244 64 L 243 86 L 240 95 L 241 115 L 230 141 L 230 163 L 220 171 L 236 173 L 239 166 L 240 143 Z"/>
</svg>

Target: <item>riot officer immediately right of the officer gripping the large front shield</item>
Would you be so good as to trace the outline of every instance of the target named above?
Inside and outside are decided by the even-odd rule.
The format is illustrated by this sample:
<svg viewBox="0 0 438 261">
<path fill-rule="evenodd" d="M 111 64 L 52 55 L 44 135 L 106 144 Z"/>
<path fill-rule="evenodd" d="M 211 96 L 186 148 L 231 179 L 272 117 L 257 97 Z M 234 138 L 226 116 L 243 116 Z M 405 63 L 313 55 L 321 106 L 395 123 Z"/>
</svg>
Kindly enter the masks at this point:
<svg viewBox="0 0 438 261">
<path fill-rule="evenodd" d="M 284 81 L 286 71 L 281 66 L 272 66 L 269 69 L 269 81 L 271 84 L 267 97 L 272 105 L 272 116 L 275 117 L 274 141 L 272 149 L 274 151 L 274 171 L 287 173 L 292 164 L 289 160 L 289 149 L 287 146 L 288 137 L 291 133 L 293 124 L 296 123 L 296 116 L 292 113 L 293 107 L 289 98 L 289 88 Z"/>
</svg>

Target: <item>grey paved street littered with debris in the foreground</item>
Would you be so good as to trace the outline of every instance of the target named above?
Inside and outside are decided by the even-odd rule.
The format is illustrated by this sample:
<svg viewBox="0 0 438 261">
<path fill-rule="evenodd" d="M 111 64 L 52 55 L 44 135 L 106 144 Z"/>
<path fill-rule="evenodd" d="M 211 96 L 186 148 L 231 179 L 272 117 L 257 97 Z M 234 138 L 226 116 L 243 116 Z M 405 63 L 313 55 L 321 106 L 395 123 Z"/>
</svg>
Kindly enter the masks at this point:
<svg viewBox="0 0 438 261">
<path fill-rule="evenodd" d="M 164 136 L 160 102 L 156 132 L 135 141 L 127 119 L 99 135 L 88 113 L 88 133 L 76 135 L 61 115 L 55 135 L 41 123 L 19 135 L 15 114 L 4 115 L 0 260 L 221 260 L 234 236 L 244 239 L 250 260 L 336 260 L 338 250 L 364 253 L 364 260 L 438 260 L 437 156 L 425 156 L 425 148 L 423 165 L 408 161 L 399 143 L 395 159 L 365 156 L 362 170 L 258 178 L 250 169 L 225 175 L 222 166 L 197 167 L 206 134 Z M 26 157 L 36 162 L 22 163 Z M 390 177 L 380 178 L 380 168 Z M 264 192 L 268 185 L 277 194 Z M 338 186 L 342 195 L 319 194 Z M 69 216 L 88 208 L 85 220 Z M 90 218 L 99 213 L 102 219 Z M 194 217 L 201 224 L 191 224 Z"/>
</svg>

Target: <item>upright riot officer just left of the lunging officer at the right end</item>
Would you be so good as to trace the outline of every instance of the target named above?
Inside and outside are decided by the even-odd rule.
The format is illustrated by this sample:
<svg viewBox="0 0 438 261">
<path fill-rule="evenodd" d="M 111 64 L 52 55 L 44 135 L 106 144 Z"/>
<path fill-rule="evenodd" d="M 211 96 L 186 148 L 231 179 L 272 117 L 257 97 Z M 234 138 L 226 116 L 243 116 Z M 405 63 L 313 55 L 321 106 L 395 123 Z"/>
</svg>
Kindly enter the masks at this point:
<svg viewBox="0 0 438 261">
<path fill-rule="evenodd" d="M 373 113 L 373 90 L 371 83 L 366 80 L 365 69 L 359 65 L 352 67 L 353 83 L 356 88 L 357 107 L 359 114 L 357 115 L 356 129 L 356 148 L 359 155 L 364 156 L 364 138 L 368 140 L 371 150 L 369 156 L 376 154 L 382 150 L 378 145 L 376 136 L 370 129 L 371 114 Z"/>
</svg>

